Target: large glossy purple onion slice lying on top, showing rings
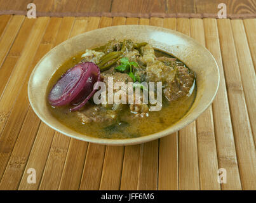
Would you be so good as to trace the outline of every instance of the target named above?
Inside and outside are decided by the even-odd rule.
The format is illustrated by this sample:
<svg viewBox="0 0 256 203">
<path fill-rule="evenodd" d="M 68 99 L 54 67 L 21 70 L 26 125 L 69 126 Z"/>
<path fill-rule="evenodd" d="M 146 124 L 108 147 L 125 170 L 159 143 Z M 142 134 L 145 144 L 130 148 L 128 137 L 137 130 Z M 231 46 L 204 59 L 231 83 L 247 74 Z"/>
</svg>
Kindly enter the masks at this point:
<svg viewBox="0 0 256 203">
<path fill-rule="evenodd" d="M 79 101 L 82 92 L 88 95 L 93 90 L 87 84 L 91 77 L 95 77 L 95 67 L 97 66 L 94 63 L 87 62 L 77 64 L 69 69 L 51 89 L 48 95 L 49 103 L 52 106 L 67 105 L 73 100 Z M 97 73 L 99 73 L 99 70 Z"/>
</svg>

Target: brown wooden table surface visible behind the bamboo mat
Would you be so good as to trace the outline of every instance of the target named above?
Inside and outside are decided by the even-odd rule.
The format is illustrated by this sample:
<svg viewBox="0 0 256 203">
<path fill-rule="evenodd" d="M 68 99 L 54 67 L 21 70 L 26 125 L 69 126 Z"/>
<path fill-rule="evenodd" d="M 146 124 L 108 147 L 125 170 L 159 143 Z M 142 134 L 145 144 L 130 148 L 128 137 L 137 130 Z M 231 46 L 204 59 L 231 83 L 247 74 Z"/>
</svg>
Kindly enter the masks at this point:
<svg viewBox="0 0 256 203">
<path fill-rule="evenodd" d="M 225 3 L 227 15 L 256 14 L 256 0 L 0 0 L 0 13 L 26 13 L 27 4 L 36 4 L 38 15 L 77 13 L 207 13 L 217 15 L 218 4 Z M 25 14 L 24 14 L 25 15 Z"/>
</svg>

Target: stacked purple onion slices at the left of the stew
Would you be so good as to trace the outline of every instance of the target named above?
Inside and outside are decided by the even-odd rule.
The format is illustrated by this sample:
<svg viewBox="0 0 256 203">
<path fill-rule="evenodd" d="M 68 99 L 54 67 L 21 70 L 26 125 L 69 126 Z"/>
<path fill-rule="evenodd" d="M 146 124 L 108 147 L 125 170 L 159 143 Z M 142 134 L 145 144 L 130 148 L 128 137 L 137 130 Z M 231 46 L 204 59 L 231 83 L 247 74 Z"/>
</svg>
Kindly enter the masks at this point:
<svg viewBox="0 0 256 203">
<path fill-rule="evenodd" d="M 52 106 L 77 105 L 70 110 L 79 110 L 93 96 L 93 84 L 100 80 L 100 70 L 91 62 L 80 63 L 67 70 L 48 95 Z"/>
</svg>

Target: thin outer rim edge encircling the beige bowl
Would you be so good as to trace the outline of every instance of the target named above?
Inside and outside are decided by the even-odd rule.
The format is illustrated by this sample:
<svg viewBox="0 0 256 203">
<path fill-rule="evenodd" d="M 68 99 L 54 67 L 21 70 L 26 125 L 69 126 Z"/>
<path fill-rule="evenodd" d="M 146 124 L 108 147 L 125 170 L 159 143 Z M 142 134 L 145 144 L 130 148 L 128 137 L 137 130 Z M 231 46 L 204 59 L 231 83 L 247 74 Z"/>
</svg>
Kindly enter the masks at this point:
<svg viewBox="0 0 256 203">
<path fill-rule="evenodd" d="M 192 41 L 192 43 L 194 44 L 197 44 L 198 46 L 200 46 L 202 49 L 204 49 L 204 51 L 206 51 L 206 53 L 208 53 L 208 55 L 210 55 L 210 57 L 212 57 L 213 59 L 213 62 L 215 63 L 215 66 L 217 68 L 217 74 L 218 74 L 218 82 L 217 82 L 217 86 L 215 88 L 215 92 L 214 92 L 214 95 L 212 96 L 212 99 L 205 105 L 204 108 L 202 108 L 201 110 L 198 111 L 198 114 L 193 117 L 193 119 L 191 119 L 189 122 L 187 122 L 185 125 L 183 126 L 179 126 L 179 127 L 175 127 L 173 128 L 172 130 L 170 130 L 169 128 L 171 126 L 169 126 L 168 128 L 166 129 L 163 129 L 162 131 L 158 131 L 156 133 L 153 133 L 153 134 L 149 134 L 149 135 L 146 135 L 146 136 L 141 136 L 141 137 L 137 137 L 137 138 L 124 138 L 124 139 L 109 139 L 109 138 L 96 138 L 96 137 L 93 137 L 93 136 L 88 136 L 86 134 L 83 134 L 84 135 L 84 138 L 81 138 L 81 137 L 78 137 L 78 136 L 74 136 L 72 134 L 69 134 L 69 133 L 65 133 L 64 131 L 58 129 L 58 128 L 55 128 L 55 126 L 52 126 L 49 122 L 47 122 L 44 118 L 41 117 L 41 115 L 39 115 L 39 113 L 37 112 L 36 108 L 34 107 L 33 105 L 33 102 L 32 102 L 32 88 L 31 87 L 31 83 L 32 83 L 32 78 L 34 77 L 34 73 L 36 72 L 36 69 L 39 67 L 39 64 L 44 60 L 44 58 L 46 58 L 48 55 L 50 55 L 53 51 L 55 51 L 55 49 L 57 49 L 58 47 L 62 46 L 64 43 L 67 43 L 69 41 L 72 41 L 74 40 L 76 37 L 80 37 L 80 36 L 83 36 L 84 34 L 88 34 L 90 32 L 94 32 L 95 30 L 105 30 L 105 29 L 109 29 L 109 28 L 112 28 L 112 27 L 144 27 L 145 29 L 152 29 L 154 31 L 157 31 L 159 32 L 160 30 L 162 31 L 165 31 L 165 32 L 168 32 L 170 34 L 173 34 L 175 36 L 180 36 L 180 37 L 184 37 L 185 39 L 189 40 L 189 41 Z M 140 144 L 140 143 L 145 143 L 145 142 L 148 142 L 148 141 L 152 141 L 152 140 L 156 140 L 156 139 L 159 139 L 159 138 L 162 138 L 164 136 L 167 136 L 169 134 L 172 134 L 176 131 L 179 131 L 180 129 L 184 128 L 185 126 L 188 126 L 189 124 L 191 124 L 192 122 L 194 122 L 198 117 L 199 115 L 201 115 L 203 112 L 205 112 L 205 110 L 210 107 L 210 105 L 212 104 L 215 96 L 217 95 L 217 91 L 219 89 L 219 84 L 220 84 L 220 70 L 219 70 L 219 66 L 214 58 L 214 56 L 212 55 L 212 53 L 210 53 L 210 51 L 205 47 L 205 46 L 202 46 L 198 41 L 196 41 L 195 39 L 193 39 L 192 37 L 189 37 L 181 32 L 177 32 L 175 30 L 172 30 L 172 29 L 166 29 L 166 28 L 163 28 L 163 27 L 156 27 L 156 26 L 152 26 L 152 25 L 116 25 L 116 26 L 110 26 L 110 27 L 104 27 L 104 28 L 100 28 L 100 29 L 95 29 L 95 30 L 91 30 L 89 32 L 84 32 L 82 34 L 79 34 L 77 36 L 74 36 L 74 37 L 71 37 L 65 41 L 63 41 L 62 43 L 58 44 L 57 46 L 55 46 L 54 48 L 50 49 L 50 51 L 48 51 L 48 53 L 46 53 L 42 58 L 41 60 L 39 60 L 39 62 L 37 62 L 36 66 L 34 67 L 34 69 L 32 70 L 31 74 L 30 74 L 30 77 L 29 77 L 29 82 L 28 82 L 28 86 L 27 86 L 27 92 L 28 92 L 28 97 L 29 97 L 29 102 L 30 102 L 30 106 L 32 107 L 32 109 L 34 110 L 34 112 L 36 113 L 37 117 L 39 117 L 39 119 L 41 119 L 41 121 L 43 121 L 47 126 L 49 126 L 50 128 L 52 129 L 55 129 L 55 131 L 58 131 L 59 133 L 62 133 L 62 134 L 65 134 L 66 136 L 69 136 L 71 138 L 75 138 L 77 140 L 81 140 L 81 141 L 88 141 L 90 143 L 97 143 L 97 144 L 100 144 L 100 145 L 116 145 L 116 146 L 123 146 L 123 145 L 137 145 L 137 144 Z M 192 107 L 191 107 L 192 108 Z M 187 113 L 185 114 L 187 115 Z M 179 119 L 182 120 L 185 115 Z M 178 122 L 178 121 L 177 121 Z M 173 124 L 174 125 L 174 124 Z M 68 127 L 67 127 L 68 128 Z M 72 131 L 74 131 L 74 129 L 72 129 Z"/>
</svg>

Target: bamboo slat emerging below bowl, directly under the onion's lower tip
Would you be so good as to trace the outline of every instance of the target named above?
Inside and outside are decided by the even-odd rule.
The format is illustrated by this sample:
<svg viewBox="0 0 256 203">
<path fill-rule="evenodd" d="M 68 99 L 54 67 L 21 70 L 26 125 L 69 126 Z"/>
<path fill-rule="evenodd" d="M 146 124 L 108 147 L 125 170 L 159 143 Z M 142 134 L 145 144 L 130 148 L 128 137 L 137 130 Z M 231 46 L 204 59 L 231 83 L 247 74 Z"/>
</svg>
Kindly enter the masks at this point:
<svg viewBox="0 0 256 203">
<path fill-rule="evenodd" d="M 97 29 L 100 18 L 86 18 L 85 31 Z M 83 27 L 83 25 L 81 25 Z M 81 30 L 83 32 L 83 30 Z M 83 173 L 84 160 L 88 143 L 71 139 L 67 159 L 65 160 L 64 172 L 60 181 L 60 190 L 78 190 Z"/>
</svg>

